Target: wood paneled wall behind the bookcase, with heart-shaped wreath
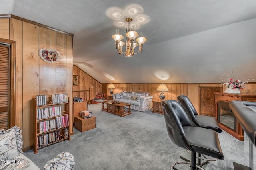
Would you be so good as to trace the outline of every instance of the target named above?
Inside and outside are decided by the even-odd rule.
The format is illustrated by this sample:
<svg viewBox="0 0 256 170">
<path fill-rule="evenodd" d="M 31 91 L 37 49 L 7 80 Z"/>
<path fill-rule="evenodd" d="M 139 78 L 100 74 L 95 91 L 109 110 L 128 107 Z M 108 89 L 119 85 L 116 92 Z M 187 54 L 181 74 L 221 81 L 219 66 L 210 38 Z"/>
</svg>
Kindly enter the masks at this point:
<svg viewBox="0 0 256 170">
<path fill-rule="evenodd" d="M 72 96 L 73 35 L 56 31 L 25 19 L 0 19 L 0 38 L 16 41 L 16 111 L 15 125 L 22 129 L 23 147 L 33 145 L 33 98 L 46 94 L 68 93 Z M 56 49 L 60 59 L 46 63 L 39 49 Z M 71 113 L 71 103 L 70 103 Z"/>
</svg>

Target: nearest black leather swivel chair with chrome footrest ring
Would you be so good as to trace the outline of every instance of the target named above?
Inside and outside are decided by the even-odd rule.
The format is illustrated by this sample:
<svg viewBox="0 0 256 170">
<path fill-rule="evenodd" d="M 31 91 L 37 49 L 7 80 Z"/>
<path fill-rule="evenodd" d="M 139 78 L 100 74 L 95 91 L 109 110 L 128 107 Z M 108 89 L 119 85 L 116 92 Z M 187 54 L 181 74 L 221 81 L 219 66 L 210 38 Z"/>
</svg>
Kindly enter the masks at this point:
<svg viewBox="0 0 256 170">
<path fill-rule="evenodd" d="M 191 157 L 190 162 L 175 162 L 171 170 L 180 163 L 190 164 L 190 170 L 197 168 L 204 170 L 196 166 L 196 152 L 220 160 L 224 159 L 216 131 L 193 126 L 184 109 L 175 100 L 162 101 L 162 108 L 170 139 L 174 144 L 190 151 Z"/>
</svg>

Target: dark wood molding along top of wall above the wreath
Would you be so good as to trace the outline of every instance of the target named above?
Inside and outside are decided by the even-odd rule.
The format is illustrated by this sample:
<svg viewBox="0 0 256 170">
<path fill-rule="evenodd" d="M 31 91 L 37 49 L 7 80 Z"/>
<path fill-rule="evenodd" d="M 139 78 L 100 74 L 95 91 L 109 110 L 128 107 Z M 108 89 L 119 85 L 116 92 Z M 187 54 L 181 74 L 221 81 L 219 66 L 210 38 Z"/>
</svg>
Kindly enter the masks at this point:
<svg viewBox="0 0 256 170">
<path fill-rule="evenodd" d="M 35 22 L 35 21 L 27 20 L 25 18 L 21 18 L 19 16 L 15 16 L 15 15 L 12 15 L 12 14 L 2 14 L 2 15 L 0 15 L 0 19 L 3 19 L 3 18 L 14 18 L 14 19 L 17 19 L 17 20 L 20 20 L 20 21 L 31 23 L 31 24 L 34 24 L 34 25 L 37 25 L 37 26 L 40 26 L 40 27 L 51 29 L 53 31 L 56 31 L 56 32 L 63 33 L 63 34 L 66 34 L 66 35 L 70 35 L 71 37 L 74 37 L 74 34 L 72 34 L 72 33 L 67 33 L 65 31 L 61 31 L 59 29 L 56 29 L 56 28 L 53 28 L 53 27 L 49 27 L 47 25 L 44 25 L 44 24 L 41 24 L 41 23 L 38 23 L 38 22 Z"/>
</svg>

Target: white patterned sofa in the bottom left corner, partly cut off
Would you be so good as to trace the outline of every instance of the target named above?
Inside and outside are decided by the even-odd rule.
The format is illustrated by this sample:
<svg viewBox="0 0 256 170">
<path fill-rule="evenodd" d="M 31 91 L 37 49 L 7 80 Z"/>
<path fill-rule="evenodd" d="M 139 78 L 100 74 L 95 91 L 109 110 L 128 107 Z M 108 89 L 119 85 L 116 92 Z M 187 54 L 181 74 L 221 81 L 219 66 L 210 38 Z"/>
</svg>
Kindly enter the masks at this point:
<svg viewBox="0 0 256 170">
<path fill-rule="evenodd" d="M 22 136 L 19 127 L 0 130 L 0 170 L 40 170 L 22 154 Z"/>
</svg>

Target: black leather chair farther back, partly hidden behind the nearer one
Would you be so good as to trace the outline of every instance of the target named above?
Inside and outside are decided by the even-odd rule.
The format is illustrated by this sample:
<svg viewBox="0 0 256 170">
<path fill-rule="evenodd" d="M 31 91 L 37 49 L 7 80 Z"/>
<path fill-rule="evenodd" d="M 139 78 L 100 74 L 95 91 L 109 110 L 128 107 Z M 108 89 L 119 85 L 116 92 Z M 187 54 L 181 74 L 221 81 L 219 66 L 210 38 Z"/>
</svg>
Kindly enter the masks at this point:
<svg viewBox="0 0 256 170">
<path fill-rule="evenodd" d="M 222 132 L 220 125 L 215 117 L 198 115 L 195 107 L 185 95 L 180 95 L 177 97 L 178 102 L 182 108 L 186 111 L 189 119 L 192 121 L 192 124 L 197 127 L 204 127 L 206 129 L 212 129 L 216 132 Z"/>
</svg>

